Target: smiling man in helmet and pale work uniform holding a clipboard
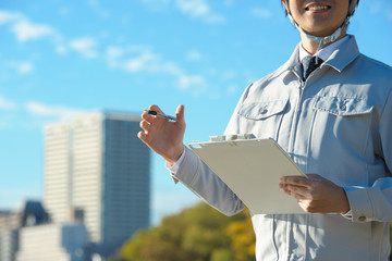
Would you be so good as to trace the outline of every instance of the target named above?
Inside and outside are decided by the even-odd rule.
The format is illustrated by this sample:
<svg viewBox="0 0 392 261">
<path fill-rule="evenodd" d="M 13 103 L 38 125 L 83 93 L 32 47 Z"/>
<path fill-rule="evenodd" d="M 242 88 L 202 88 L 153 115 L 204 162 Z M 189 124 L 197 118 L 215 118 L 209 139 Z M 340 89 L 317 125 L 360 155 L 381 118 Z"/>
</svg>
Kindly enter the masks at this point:
<svg viewBox="0 0 392 261">
<path fill-rule="evenodd" d="M 253 214 L 256 258 L 387 261 L 392 69 L 362 54 L 346 34 L 358 0 L 282 2 L 302 41 L 286 63 L 245 89 L 225 134 L 274 139 L 307 174 L 283 177 L 277 186 L 307 213 Z M 142 117 L 139 138 L 166 159 L 175 181 L 224 214 L 245 208 L 183 145 L 183 105 L 176 122 Z"/>
</svg>

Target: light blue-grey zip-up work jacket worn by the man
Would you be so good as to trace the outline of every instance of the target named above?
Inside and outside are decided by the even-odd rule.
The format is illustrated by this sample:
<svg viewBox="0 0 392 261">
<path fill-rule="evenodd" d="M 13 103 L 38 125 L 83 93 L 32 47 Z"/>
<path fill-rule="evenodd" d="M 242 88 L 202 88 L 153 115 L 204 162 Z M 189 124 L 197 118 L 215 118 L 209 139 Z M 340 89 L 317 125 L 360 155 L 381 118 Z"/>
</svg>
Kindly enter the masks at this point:
<svg viewBox="0 0 392 261">
<path fill-rule="evenodd" d="M 344 187 L 351 216 L 254 214 L 257 260 L 387 261 L 392 69 L 359 53 L 350 36 L 306 82 L 301 75 L 297 47 L 283 66 L 247 87 L 225 134 L 273 138 L 304 173 Z M 187 148 L 172 175 L 224 214 L 245 208 Z"/>
</svg>

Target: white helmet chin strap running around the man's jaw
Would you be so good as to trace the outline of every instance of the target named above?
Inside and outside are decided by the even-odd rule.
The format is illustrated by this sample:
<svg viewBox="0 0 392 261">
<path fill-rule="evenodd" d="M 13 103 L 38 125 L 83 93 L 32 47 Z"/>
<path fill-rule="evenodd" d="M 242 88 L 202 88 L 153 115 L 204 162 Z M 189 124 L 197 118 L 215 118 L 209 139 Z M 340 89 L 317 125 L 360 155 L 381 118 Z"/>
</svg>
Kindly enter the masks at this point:
<svg viewBox="0 0 392 261">
<path fill-rule="evenodd" d="M 329 42 L 332 42 L 332 41 L 335 41 L 335 40 L 341 36 L 343 28 L 348 25 L 350 18 L 351 18 L 351 16 L 353 16 L 356 7 L 357 7 L 358 3 L 359 3 L 359 0 L 350 0 L 348 13 L 347 13 L 347 16 L 346 16 L 346 18 L 344 20 L 343 24 L 342 24 L 332 35 L 330 35 L 330 36 L 323 36 L 323 37 L 314 36 L 314 35 L 309 35 L 309 34 L 305 33 L 305 32 L 299 27 L 299 25 L 294 21 L 293 16 L 291 15 L 290 7 L 289 7 L 289 0 L 286 0 L 285 3 L 287 4 L 287 16 L 289 16 L 289 18 L 291 20 L 291 22 L 295 25 L 295 27 L 296 27 L 302 34 L 304 34 L 304 35 L 306 36 L 306 38 L 307 38 L 308 40 L 314 41 L 314 42 L 319 42 L 319 44 L 320 44 L 319 49 L 321 49 L 323 45 L 329 44 Z"/>
</svg>

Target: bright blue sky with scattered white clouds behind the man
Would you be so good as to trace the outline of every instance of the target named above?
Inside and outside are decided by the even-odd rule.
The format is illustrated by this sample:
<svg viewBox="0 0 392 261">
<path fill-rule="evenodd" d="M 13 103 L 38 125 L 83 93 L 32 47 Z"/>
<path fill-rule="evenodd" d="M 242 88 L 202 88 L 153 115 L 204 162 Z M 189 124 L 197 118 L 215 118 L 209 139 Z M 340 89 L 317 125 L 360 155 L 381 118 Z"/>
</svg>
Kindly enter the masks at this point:
<svg viewBox="0 0 392 261">
<path fill-rule="evenodd" d="M 362 0 L 348 33 L 392 64 L 392 2 Z M 40 199 L 47 123 L 185 104 L 185 144 L 222 134 L 243 91 L 299 36 L 278 0 L 0 0 L 0 209 Z M 152 157 L 152 222 L 198 199 Z"/>
</svg>

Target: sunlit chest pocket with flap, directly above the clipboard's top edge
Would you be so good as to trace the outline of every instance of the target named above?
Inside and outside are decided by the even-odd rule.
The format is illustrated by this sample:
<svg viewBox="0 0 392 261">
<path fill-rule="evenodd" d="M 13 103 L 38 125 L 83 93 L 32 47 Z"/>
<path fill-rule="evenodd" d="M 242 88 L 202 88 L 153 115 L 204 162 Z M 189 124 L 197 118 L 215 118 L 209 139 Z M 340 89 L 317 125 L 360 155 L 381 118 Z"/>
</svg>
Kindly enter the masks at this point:
<svg viewBox="0 0 392 261">
<path fill-rule="evenodd" d="M 287 99 L 244 103 L 240 110 L 241 133 L 277 139 Z"/>
</svg>

